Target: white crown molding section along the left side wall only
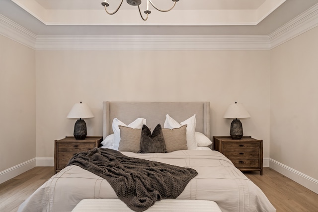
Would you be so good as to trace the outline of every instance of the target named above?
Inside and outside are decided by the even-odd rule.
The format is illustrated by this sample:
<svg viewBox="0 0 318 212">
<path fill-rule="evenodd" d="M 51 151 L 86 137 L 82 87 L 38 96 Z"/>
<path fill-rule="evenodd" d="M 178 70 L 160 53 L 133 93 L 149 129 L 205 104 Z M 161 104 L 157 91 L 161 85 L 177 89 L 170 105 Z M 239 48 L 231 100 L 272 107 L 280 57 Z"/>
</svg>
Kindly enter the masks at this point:
<svg viewBox="0 0 318 212">
<path fill-rule="evenodd" d="M 0 35 L 35 49 L 36 35 L 0 14 Z"/>
</svg>

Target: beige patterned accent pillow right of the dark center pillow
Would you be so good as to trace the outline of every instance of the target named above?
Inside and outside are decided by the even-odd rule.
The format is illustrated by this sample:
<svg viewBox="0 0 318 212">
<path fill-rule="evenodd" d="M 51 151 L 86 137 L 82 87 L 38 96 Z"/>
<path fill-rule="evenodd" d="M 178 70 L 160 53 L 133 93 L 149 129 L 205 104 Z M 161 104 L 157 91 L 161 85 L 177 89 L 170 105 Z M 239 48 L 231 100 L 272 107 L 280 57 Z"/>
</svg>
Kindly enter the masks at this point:
<svg viewBox="0 0 318 212">
<path fill-rule="evenodd" d="M 183 125 L 180 128 L 174 128 L 172 130 L 162 129 L 163 139 L 167 152 L 188 149 L 186 127 L 187 125 Z"/>
</svg>

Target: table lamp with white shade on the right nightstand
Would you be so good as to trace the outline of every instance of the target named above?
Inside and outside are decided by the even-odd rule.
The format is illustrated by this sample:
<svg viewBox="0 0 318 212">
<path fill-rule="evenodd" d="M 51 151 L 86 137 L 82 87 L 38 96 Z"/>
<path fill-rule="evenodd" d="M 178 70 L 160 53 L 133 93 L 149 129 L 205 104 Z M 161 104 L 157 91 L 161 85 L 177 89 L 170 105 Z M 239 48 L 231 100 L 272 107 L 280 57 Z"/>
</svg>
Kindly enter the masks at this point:
<svg viewBox="0 0 318 212">
<path fill-rule="evenodd" d="M 228 107 L 228 110 L 225 112 L 223 118 L 233 119 L 230 129 L 230 135 L 232 139 L 239 140 L 243 137 L 243 127 L 239 119 L 249 117 L 250 115 L 245 110 L 242 104 L 237 104 L 237 102 L 235 102 L 235 104 L 231 104 Z"/>
</svg>

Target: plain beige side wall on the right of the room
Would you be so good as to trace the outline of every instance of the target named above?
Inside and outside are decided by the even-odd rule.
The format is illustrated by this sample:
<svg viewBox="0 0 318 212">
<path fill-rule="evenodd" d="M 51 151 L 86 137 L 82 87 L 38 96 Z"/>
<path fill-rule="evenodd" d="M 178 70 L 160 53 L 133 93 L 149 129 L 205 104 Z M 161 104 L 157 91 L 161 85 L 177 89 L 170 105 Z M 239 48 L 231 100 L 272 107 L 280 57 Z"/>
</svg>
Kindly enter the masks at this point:
<svg viewBox="0 0 318 212">
<path fill-rule="evenodd" d="M 318 27 L 271 51 L 270 158 L 318 179 Z"/>
</svg>

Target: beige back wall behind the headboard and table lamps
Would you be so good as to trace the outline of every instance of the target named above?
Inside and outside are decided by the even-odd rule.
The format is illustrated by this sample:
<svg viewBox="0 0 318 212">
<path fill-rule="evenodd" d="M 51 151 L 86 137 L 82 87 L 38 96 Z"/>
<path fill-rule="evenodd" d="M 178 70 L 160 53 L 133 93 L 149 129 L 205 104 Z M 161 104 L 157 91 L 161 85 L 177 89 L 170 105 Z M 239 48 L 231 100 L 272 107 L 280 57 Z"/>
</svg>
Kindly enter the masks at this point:
<svg viewBox="0 0 318 212">
<path fill-rule="evenodd" d="M 269 157 L 270 51 L 37 51 L 36 155 L 53 157 L 54 140 L 72 136 L 73 104 L 87 103 L 87 135 L 102 135 L 102 101 L 210 101 L 211 135 L 229 135 L 229 104 L 251 118 L 244 135 L 264 140 Z"/>
</svg>

